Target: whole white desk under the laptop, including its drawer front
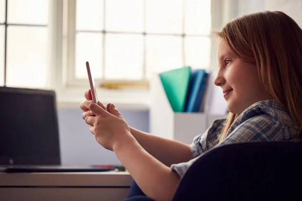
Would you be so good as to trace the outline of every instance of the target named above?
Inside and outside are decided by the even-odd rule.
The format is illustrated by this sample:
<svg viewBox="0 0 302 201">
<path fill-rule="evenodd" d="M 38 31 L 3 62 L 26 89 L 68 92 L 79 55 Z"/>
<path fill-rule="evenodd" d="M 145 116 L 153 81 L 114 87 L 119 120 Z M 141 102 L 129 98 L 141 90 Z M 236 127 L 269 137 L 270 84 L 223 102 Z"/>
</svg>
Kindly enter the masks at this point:
<svg viewBox="0 0 302 201">
<path fill-rule="evenodd" d="M 0 200 L 122 200 L 128 172 L 0 173 Z"/>
</svg>

